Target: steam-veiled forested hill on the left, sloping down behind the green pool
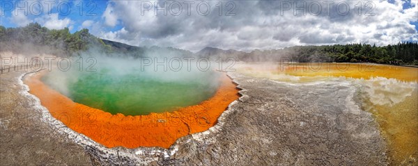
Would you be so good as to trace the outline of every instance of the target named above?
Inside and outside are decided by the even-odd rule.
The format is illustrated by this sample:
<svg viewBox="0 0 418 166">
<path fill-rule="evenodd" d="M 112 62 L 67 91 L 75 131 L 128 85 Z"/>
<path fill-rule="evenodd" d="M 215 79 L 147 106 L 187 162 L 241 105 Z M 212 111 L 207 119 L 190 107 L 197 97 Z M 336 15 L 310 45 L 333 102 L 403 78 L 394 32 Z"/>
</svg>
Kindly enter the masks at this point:
<svg viewBox="0 0 418 166">
<path fill-rule="evenodd" d="M 19 28 L 0 26 L 0 51 L 16 53 L 50 53 L 56 56 L 73 56 L 92 49 L 107 56 L 141 57 L 146 53 L 190 56 L 192 52 L 172 47 L 135 47 L 120 42 L 102 40 L 84 28 L 70 33 L 68 28 L 49 30 L 38 23 Z"/>
</svg>

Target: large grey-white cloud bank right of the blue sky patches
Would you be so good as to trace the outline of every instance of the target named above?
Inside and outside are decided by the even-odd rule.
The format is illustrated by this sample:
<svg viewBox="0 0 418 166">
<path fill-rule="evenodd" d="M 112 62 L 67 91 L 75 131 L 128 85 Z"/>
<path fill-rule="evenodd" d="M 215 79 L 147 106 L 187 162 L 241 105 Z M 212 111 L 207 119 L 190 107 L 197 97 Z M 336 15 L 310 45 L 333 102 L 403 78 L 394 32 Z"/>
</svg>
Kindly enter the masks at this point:
<svg viewBox="0 0 418 166">
<path fill-rule="evenodd" d="M 219 16 L 215 7 L 217 1 L 208 1 L 212 11 L 206 16 L 196 13 L 199 1 L 192 5 L 191 15 L 187 15 L 183 5 L 183 13 L 179 16 L 170 13 L 155 16 L 153 9 L 142 15 L 141 1 L 112 1 L 102 15 L 104 24 L 113 27 L 120 21 L 124 28 L 113 32 L 102 31 L 98 35 L 128 44 L 178 47 L 192 51 L 203 47 L 248 51 L 353 42 L 383 45 L 418 38 L 415 26 L 410 24 L 418 19 L 417 1 L 405 2 L 414 6 L 406 10 L 402 8 L 401 0 L 394 3 L 371 1 L 373 10 L 366 8 L 366 1 L 362 1 L 360 15 L 359 1 L 347 1 L 350 6 L 348 15 L 339 14 L 336 5 L 341 1 L 334 1 L 330 15 L 325 13 L 323 6 L 323 12 L 318 16 L 309 13 L 294 15 L 293 8 L 280 8 L 281 1 L 233 2 L 236 5 L 233 10 L 235 16 L 225 16 L 228 8 L 224 8 L 223 15 Z M 225 3 L 223 5 L 226 6 Z M 284 15 L 281 15 L 282 11 Z M 162 13 L 161 10 L 158 12 Z M 366 12 L 374 15 L 366 16 Z"/>
</svg>

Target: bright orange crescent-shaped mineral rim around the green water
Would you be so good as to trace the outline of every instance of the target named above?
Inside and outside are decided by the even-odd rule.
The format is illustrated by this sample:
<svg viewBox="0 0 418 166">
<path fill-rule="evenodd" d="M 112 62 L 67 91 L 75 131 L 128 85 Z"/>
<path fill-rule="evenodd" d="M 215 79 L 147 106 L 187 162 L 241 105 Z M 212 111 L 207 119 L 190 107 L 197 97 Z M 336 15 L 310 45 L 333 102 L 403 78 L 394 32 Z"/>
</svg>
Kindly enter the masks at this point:
<svg viewBox="0 0 418 166">
<path fill-rule="evenodd" d="M 178 138 L 208 130 L 217 118 L 240 96 L 231 78 L 222 74 L 222 83 L 210 99 L 172 113 L 149 115 L 111 115 L 102 110 L 75 103 L 40 81 L 45 72 L 25 78 L 29 93 L 40 99 L 49 113 L 78 133 L 105 147 L 169 148 Z"/>
</svg>

